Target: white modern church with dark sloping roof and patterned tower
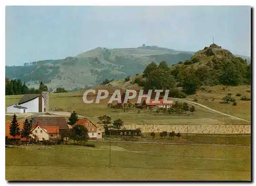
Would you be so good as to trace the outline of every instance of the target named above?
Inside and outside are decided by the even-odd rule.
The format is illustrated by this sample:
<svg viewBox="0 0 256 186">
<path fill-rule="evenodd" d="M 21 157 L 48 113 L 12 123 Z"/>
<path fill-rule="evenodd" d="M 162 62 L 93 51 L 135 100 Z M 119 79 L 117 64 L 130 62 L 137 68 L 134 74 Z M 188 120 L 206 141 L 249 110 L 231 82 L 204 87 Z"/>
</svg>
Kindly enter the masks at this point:
<svg viewBox="0 0 256 186">
<path fill-rule="evenodd" d="M 49 111 L 49 92 L 25 94 L 17 104 L 7 107 L 7 113 L 38 113 Z"/>
</svg>

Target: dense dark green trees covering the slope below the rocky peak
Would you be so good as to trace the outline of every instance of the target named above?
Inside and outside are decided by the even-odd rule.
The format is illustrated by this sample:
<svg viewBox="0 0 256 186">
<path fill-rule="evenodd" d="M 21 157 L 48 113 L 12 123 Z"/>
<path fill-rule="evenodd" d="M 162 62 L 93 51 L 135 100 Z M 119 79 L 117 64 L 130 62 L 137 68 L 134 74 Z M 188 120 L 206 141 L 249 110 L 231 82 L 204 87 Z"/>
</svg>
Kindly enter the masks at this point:
<svg viewBox="0 0 256 186">
<path fill-rule="evenodd" d="M 195 64 L 198 63 L 196 66 Z M 146 66 L 142 77 L 134 83 L 145 90 L 170 90 L 170 96 L 185 97 L 194 94 L 200 86 L 238 86 L 251 83 L 251 64 L 240 57 L 220 58 L 215 56 L 207 64 L 191 58 L 169 67 L 166 62 L 155 62 Z M 179 91 L 177 87 L 182 87 Z"/>
</svg>

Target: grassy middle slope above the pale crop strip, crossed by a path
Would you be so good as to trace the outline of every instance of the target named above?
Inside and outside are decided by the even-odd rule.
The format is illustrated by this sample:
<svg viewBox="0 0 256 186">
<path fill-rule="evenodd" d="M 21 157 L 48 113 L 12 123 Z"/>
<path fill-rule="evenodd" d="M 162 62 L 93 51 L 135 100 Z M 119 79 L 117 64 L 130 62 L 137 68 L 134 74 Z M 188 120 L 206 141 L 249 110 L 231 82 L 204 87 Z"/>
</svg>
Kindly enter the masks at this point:
<svg viewBox="0 0 256 186">
<path fill-rule="evenodd" d="M 113 87 L 99 86 L 96 89 L 108 89 L 110 92 L 114 92 L 115 89 L 120 89 L 125 83 L 117 81 L 113 83 Z M 222 90 L 223 86 L 215 87 L 206 87 L 206 91 L 198 91 L 196 95 L 188 96 L 187 100 L 193 100 L 194 98 L 198 99 L 199 103 L 205 104 L 210 108 L 214 108 L 217 111 L 223 113 L 228 113 L 233 116 L 241 117 L 243 119 L 250 120 L 250 101 L 241 101 L 240 97 L 234 96 L 237 99 L 237 106 L 232 106 L 230 104 L 220 104 L 221 98 L 227 95 L 229 92 L 232 95 L 241 93 L 242 95 L 250 96 L 250 93 L 245 92 L 245 90 L 250 89 L 250 86 L 238 86 L 238 87 L 228 87 L 225 91 Z M 128 89 L 139 89 L 138 86 L 128 83 L 125 88 Z M 229 90 L 228 90 L 229 89 Z M 212 90 L 212 92 L 207 92 Z M 88 116 L 88 117 L 97 117 L 101 115 L 111 115 L 112 119 L 121 118 L 127 124 L 248 124 L 243 121 L 231 120 L 225 118 L 223 115 L 209 113 L 202 109 L 201 107 L 196 106 L 197 111 L 192 115 L 188 114 L 179 115 L 179 118 L 170 117 L 176 115 L 165 115 L 165 114 L 150 114 L 148 111 L 142 111 L 140 114 L 137 113 L 136 109 L 132 109 L 123 113 L 122 109 L 110 109 L 107 108 L 107 101 L 102 100 L 100 104 L 92 103 L 85 104 L 82 101 L 83 91 L 78 92 L 68 92 L 68 93 L 58 93 L 50 94 L 50 109 L 55 110 L 55 108 L 61 108 L 64 111 L 73 111 L 75 110 L 78 114 Z M 6 105 L 15 103 L 22 97 L 21 95 L 12 95 L 6 96 Z M 92 96 L 88 99 L 96 99 L 95 96 Z M 211 100 L 215 98 L 215 100 Z M 205 100 L 208 99 L 208 100 Z M 201 118 L 186 118 L 186 117 L 201 117 Z M 223 118 L 224 117 L 224 118 Z M 205 118 L 205 119 L 204 119 Z M 9 120 L 10 118 L 7 117 Z M 94 122 L 97 122 L 97 119 L 92 119 Z"/>
</svg>

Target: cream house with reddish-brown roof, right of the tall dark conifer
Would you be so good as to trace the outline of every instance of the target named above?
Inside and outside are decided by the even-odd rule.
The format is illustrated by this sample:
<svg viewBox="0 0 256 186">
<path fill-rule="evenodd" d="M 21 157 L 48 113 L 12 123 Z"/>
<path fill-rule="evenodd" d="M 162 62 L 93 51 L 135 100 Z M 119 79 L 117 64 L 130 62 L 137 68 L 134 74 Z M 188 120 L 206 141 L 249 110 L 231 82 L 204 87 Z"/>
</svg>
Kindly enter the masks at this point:
<svg viewBox="0 0 256 186">
<path fill-rule="evenodd" d="M 84 118 L 79 119 L 72 127 L 76 125 L 83 125 L 84 128 L 88 129 L 88 135 L 90 139 L 101 139 L 102 138 L 102 130 L 97 127 L 91 120 Z"/>
</svg>

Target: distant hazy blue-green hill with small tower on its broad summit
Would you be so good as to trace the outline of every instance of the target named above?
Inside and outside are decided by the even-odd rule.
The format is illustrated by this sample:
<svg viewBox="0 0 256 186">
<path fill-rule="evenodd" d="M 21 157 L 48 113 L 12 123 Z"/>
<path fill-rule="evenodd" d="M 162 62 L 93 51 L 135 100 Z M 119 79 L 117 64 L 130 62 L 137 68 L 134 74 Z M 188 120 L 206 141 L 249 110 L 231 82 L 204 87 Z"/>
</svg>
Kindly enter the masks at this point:
<svg viewBox="0 0 256 186">
<path fill-rule="evenodd" d="M 168 65 L 191 58 L 194 52 L 176 51 L 157 46 L 138 48 L 95 48 L 75 57 L 6 66 L 6 77 L 21 79 L 29 87 L 44 82 L 48 88 L 68 90 L 96 86 L 104 79 L 122 79 L 142 73 L 146 65 L 166 61 Z"/>
</svg>

